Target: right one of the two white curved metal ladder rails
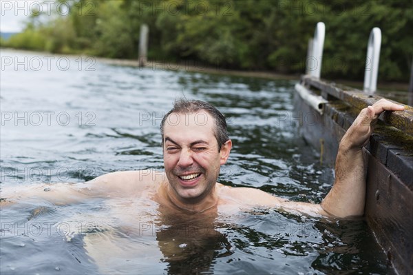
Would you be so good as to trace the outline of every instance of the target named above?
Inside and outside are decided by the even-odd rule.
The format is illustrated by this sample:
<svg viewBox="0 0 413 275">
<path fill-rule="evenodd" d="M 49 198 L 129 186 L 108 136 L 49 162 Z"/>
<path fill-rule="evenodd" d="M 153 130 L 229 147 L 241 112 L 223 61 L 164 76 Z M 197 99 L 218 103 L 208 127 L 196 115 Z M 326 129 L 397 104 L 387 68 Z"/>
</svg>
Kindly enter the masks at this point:
<svg viewBox="0 0 413 275">
<path fill-rule="evenodd" d="M 373 28 L 367 45 L 366 70 L 364 72 L 364 92 L 373 94 L 377 90 L 381 47 L 381 30 Z"/>
</svg>

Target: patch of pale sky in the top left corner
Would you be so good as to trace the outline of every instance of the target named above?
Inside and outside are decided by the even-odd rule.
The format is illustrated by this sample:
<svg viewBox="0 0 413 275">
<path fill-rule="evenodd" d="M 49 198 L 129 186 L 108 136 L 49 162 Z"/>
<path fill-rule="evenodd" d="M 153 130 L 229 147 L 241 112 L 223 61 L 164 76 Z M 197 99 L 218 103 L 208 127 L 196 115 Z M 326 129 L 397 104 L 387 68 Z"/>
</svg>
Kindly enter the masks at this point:
<svg viewBox="0 0 413 275">
<path fill-rule="evenodd" d="M 46 2 L 43 3 L 43 2 Z M 43 3 L 43 6 L 41 6 Z M 0 0 L 0 31 L 1 32 L 21 32 L 24 28 L 24 21 L 30 17 L 35 10 L 41 9 L 47 12 L 48 5 L 54 1 L 47 0 Z"/>
</svg>

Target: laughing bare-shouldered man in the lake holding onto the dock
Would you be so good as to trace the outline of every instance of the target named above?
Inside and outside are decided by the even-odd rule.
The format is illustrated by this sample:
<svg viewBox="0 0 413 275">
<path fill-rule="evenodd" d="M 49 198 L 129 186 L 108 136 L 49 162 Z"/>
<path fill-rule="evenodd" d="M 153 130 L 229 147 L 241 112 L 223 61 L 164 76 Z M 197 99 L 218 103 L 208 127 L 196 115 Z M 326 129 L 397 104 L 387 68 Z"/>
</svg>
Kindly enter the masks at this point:
<svg viewBox="0 0 413 275">
<path fill-rule="evenodd" d="M 364 170 L 362 146 L 368 141 L 377 116 L 385 110 L 401 111 L 404 108 L 381 99 L 361 110 L 343 136 L 335 167 L 340 176 L 321 204 L 288 201 L 254 188 L 217 183 L 220 166 L 226 163 L 232 147 L 226 133 L 226 121 L 209 103 L 184 100 L 177 101 L 162 119 L 165 172 L 114 172 L 83 184 L 56 184 L 47 189 L 48 192 L 41 185 L 18 192 L 3 190 L 1 196 L 7 199 L 2 200 L 2 204 L 29 198 L 45 198 L 65 204 L 101 196 L 149 199 L 158 203 L 163 216 L 233 213 L 251 207 L 271 207 L 311 216 L 361 216 L 366 180 L 364 173 L 354 178 L 354 171 Z"/>
</svg>

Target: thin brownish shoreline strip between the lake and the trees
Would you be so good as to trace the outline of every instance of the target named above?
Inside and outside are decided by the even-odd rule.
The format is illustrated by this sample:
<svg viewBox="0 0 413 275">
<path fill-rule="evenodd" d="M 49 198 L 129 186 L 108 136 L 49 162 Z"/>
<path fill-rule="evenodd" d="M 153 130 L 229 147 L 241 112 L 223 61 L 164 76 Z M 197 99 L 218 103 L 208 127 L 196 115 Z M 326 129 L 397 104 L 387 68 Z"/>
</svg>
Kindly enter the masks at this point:
<svg viewBox="0 0 413 275">
<path fill-rule="evenodd" d="M 50 52 L 41 52 L 33 50 L 21 50 L 14 48 L 0 48 L 1 50 L 8 50 L 11 52 L 30 52 L 32 54 L 48 54 L 55 57 L 91 57 L 101 63 L 109 65 L 138 67 L 138 59 L 110 59 L 107 57 L 96 57 L 87 54 L 52 54 Z M 199 62 L 199 61 L 198 61 Z M 192 64 L 192 65 L 191 65 Z M 301 78 L 302 74 L 280 74 L 271 71 L 251 71 L 251 70 L 228 70 L 224 68 L 214 68 L 212 66 L 205 66 L 197 61 L 182 61 L 180 63 L 162 62 L 162 61 L 147 61 L 144 68 L 153 68 L 153 70 L 171 70 L 171 71 L 185 71 L 185 72 L 200 72 L 207 74 L 227 75 L 233 77 L 253 77 L 259 79 L 286 79 L 297 80 Z M 304 73 L 303 73 L 304 74 Z M 356 88 L 361 90 L 363 88 L 363 81 L 352 81 L 346 79 L 325 79 L 329 82 L 335 82 L 342 85 L 349 86 L 350 88 Z M 401 82 L 378 82 L 377 86 L 380 90 L 391 92 L 406 92 L 409 88 L 408 81 L 406 83 Z"/>
</svg>

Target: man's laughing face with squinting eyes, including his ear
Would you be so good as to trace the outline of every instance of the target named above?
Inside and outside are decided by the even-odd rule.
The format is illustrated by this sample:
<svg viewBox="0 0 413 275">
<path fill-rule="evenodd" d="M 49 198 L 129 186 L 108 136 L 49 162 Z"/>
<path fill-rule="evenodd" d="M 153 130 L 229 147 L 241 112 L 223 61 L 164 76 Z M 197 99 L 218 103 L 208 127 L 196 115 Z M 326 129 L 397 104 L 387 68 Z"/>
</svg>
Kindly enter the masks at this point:
<svg viewBox="0 0 413 275">
<path fill-rule="evenodd" d="M 218 152 L 215 121 L 205 111 L 172 113 L 164 126 L 165 172 L 174 195 L 182 202 L 198 201 L 215 186 L 220 165 L 228 159 L 231 141 Z"/>
</svg>

